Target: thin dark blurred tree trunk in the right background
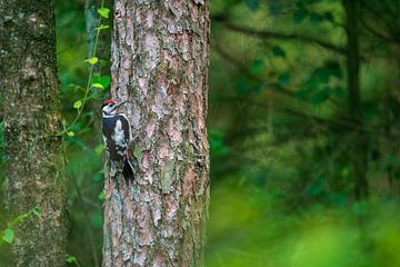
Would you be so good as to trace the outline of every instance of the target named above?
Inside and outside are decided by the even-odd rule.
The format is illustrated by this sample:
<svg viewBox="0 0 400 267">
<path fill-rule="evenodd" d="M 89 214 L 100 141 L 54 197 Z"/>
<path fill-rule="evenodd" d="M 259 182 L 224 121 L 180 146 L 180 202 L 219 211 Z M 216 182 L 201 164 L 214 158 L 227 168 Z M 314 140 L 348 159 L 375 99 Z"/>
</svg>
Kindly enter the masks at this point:
<svg viewBox="0 0 400 267">
<path fill-rule="evenodd" d="M 360 88 L 360 44 L 358 27 L 359 0 L 343 1 L 347 20 L 347 83 L 349 92 L 349 117 L 357 125 L 352 132 L 351 165 L 357 199 L 368 196 L 368 140 L 363 130 L 363 109 Z"/>
</svg>

